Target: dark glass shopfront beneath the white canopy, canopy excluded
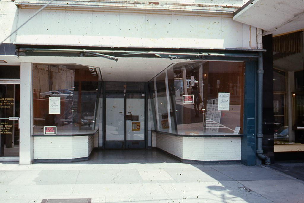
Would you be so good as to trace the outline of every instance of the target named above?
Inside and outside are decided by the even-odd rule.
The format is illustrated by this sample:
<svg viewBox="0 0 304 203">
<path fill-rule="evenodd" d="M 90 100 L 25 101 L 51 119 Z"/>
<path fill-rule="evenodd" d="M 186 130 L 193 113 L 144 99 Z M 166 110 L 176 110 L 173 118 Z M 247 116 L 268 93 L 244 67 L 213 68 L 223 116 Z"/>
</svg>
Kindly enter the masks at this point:
<svg viewBox="0 0 304 203">
<path fill-rule="evenodd" d="M 265 116 L 265 133 L 274 133 L 273 142 L 266 145 L 272 148 L 274 160 L 302 159 L 303 32 L 266 37 L 272 61 L 265 71 L 273 77 L 273 84 L 264 91 L 273 97 L 264 107 L 272 113 L 272 117 Z"/>
</svg>

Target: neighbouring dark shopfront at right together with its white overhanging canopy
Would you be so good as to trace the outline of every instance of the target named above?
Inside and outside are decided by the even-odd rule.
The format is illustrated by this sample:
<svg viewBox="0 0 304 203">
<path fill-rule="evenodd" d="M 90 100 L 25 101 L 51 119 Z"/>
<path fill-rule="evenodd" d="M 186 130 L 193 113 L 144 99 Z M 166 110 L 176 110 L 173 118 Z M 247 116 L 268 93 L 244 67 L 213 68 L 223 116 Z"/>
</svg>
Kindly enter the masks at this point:
<svg viewBox="0 0 304 203">
<path fill-rule="evenodd" d="M 249 1 L 235 12 L 234 19 L 263 29 L 263 49 L 267 50 L 263 55 L 264 152 L 272 162 L 302 160 L 303 2 Z"/>
</svg>

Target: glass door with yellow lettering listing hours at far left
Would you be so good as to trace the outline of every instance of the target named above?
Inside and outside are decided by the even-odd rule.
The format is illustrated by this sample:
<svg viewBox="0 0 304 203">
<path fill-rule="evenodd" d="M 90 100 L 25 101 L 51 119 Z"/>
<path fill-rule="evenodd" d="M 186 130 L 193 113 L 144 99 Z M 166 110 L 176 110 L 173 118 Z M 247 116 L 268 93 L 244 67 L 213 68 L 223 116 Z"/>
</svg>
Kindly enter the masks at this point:
<svg viewBox="0 0 304 203">
<path fill-rule="evenodd" d="M 0 157 L 19 157 L 19 84 L 0 83 Z"/>
</svg>

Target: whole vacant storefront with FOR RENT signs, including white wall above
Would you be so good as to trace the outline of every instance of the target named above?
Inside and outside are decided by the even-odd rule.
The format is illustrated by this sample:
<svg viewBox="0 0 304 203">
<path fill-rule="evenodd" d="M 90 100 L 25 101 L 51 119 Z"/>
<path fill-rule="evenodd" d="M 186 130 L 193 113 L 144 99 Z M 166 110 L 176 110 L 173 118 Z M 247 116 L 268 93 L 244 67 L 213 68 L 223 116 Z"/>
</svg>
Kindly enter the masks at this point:
<svg viewBox="0 0 304 203">
<path fill-rule="evenodd" d="M 261 30 L 233 21 L 240 2 L 61 3 L 12 36 L 13 56 L 2 54 L 20 67 L 20 164 L 151 147 L 184 162 L 261 163 L 265 50 Z M 19 24 L 42 6 L 6 4 Z"/>
</svg>

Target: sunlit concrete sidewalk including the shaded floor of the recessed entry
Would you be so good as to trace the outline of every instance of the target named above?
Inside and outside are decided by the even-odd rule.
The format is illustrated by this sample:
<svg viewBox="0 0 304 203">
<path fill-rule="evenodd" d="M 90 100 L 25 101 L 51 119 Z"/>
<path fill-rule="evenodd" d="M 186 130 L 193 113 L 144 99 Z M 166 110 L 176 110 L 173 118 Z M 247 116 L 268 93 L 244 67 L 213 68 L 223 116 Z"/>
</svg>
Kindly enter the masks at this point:
<svg viewBox="0 0 304 203">
<path fill-rule="evenodd" d="M 265 166 L 183 164 L 157 150 L 95 151 L 71 164 L 1 163 L 0 200 L 302 203 L 304 182 Z"/>
</svg>

